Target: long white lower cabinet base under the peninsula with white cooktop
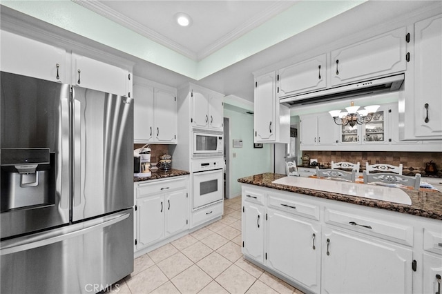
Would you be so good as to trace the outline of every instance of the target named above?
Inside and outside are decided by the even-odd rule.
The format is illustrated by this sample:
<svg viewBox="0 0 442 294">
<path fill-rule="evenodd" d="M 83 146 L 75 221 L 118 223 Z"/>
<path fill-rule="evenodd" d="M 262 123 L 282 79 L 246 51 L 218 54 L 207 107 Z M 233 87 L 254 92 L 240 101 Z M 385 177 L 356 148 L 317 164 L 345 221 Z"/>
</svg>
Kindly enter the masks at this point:
<svg viewBox="0 0 442 294">
<path fill-rule="evenodd" d="M 244 257 L 302 291 L 439 291 L 440 220 L 249 184 L 242 209 Z"/>
</svg>

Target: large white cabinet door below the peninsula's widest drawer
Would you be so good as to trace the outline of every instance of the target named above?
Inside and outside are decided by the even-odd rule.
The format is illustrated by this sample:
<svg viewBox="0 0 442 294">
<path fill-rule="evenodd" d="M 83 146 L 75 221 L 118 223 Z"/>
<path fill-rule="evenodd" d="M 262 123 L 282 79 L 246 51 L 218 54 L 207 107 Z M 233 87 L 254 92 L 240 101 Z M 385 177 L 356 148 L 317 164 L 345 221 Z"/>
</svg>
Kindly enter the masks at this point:
<svg viewBox="0 0 442 294">
<path fill-rule="evenodd" d="M 323 228 L 324 293 L 411 293 L 412 250 Z"/>
</svg>

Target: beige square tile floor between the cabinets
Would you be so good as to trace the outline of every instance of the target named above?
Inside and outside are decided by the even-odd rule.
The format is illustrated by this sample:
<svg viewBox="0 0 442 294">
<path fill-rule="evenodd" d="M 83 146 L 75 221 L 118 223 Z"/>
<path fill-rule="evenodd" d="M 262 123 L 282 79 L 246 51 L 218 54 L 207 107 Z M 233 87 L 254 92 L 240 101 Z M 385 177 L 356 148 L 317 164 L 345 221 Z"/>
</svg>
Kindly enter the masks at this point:
<svg viewBox="0 0 442 294">
<path fill-rule="evenodd" d="M 224 201 L 218 222 L 135 259 L 115 293 L 302 293 L 241 253 L 241 198 Z"/>
</svg>

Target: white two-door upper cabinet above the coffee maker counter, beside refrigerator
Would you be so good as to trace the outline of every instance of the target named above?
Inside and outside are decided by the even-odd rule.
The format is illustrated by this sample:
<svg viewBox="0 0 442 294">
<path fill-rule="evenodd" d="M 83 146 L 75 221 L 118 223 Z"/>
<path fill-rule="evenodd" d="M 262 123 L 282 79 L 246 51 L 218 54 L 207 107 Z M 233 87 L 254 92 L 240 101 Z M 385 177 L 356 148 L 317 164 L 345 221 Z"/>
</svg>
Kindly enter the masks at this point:
<svg viewBox="0 0 442 294">
<path fill-rule="evenodd" d="M 177 143 L 176 89 L 135 78 L 133 86 L 135 143 Z"/>
</svg>

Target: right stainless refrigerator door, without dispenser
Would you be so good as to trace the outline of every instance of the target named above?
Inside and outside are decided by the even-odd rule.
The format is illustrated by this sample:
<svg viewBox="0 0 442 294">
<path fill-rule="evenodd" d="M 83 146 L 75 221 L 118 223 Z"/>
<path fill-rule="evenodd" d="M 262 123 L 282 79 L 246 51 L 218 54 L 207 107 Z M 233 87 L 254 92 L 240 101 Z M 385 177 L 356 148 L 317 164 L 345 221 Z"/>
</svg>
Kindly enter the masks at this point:
<svg viewBox="0 0 442 294">
<path fill-rule="evenodd" d="M 73 87 L 73 222 L 133 206 L 133 99 Z"/>
</svg>

